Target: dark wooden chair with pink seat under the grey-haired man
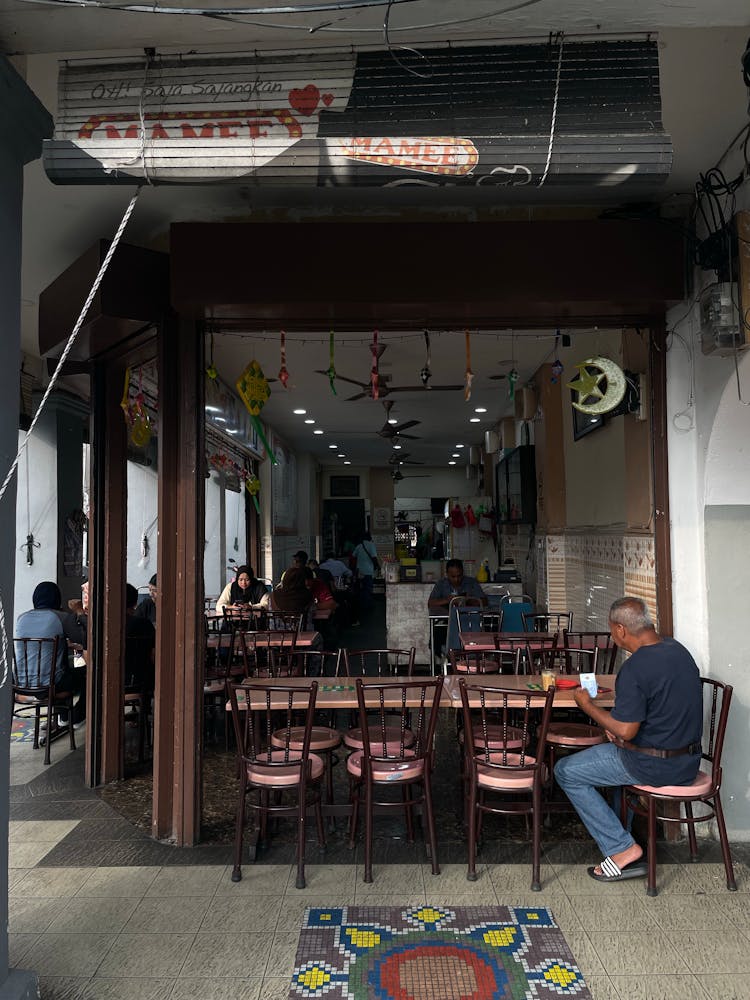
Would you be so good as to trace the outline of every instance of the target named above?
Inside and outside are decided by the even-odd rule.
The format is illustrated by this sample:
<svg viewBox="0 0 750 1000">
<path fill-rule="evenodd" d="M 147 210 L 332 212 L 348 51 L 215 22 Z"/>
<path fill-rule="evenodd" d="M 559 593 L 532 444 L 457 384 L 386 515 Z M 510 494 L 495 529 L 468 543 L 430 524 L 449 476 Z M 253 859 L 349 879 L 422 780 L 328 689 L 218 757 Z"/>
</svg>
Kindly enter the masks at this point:
<svg viewBox="0 0 750 1000">
<path fill-rule="evenodd" d="M 721 807 L 721 755 L 724 749 L 724 736 L 729 718 L 729 706 L 732 702 L 732 685 L 709 677 L 701 677 L 703 692 L 704 725 L 701 758 L 709 765 L 696 775 L 689 785 L 628 785 L 623 789 L 621 801 L 623 821 L 627 810 L 631 809 L 639 816 L 648 820 L 648 882 L 646 893 L 656 896 L 656 821 L 662 823 L 684 823 L 688 828 L 688 844 L 690 860 L 698 860 L 698 843 L 695 836 L 697 823 L 716 820 L 721 844 L 721 855 L 724 860 L 724 873 L 727 889 L 737 891 L 737 883 L 732 867 L 732 854 L 729 849 L 727 828 L 724 822 L 724 811 Z M 645 805 L 644 805 L 645 803 Z M 701 803 L 707 811 L 699 816 L 693 814 L 693 806 Z M 670 815 L 674 806 L 682 806 L 684 815 Z M 659 807 L 662 807 L 661 810 Z"/>
</svg>

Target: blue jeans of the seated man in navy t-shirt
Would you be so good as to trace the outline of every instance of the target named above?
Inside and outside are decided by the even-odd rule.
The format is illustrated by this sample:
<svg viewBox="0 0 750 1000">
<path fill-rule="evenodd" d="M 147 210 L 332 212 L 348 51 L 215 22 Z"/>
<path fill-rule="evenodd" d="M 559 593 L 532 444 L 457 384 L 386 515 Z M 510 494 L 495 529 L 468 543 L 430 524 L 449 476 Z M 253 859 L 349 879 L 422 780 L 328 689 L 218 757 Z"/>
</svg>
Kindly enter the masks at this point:
<svg viewBox="0 0 750 1000">
<path fill-rule="evenodd" d="M 563 757 L 555 765 L 557 783 L 573 803 L 604 857 L 627 850 L 635 841 L 597 788 L 637 783 L 614 743 L 602 743 Z M 619 798 L 617 796 L 616 798 Z"/>
</svg>

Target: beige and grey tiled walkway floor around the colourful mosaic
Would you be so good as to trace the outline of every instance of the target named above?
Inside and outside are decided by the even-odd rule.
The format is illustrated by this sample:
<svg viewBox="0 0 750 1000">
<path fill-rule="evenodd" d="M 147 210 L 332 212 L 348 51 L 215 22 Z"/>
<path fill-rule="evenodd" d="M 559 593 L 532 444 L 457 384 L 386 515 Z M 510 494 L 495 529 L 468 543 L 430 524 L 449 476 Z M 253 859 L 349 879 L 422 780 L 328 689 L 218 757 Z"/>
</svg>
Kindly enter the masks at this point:
<svg viewBox="0 0 750 1000">
<path fill-rule="evenodd" d="M 598 1000 L 750 1000 L 749 845 L 734 848 L 736 893 L 715 843 L 695 865 L 685 846 L 660 846 L 649 899 L 642 879 L 592 881 L 586 841 L 548 844 L 532 893 L 525 844 L 487 843 L 470 883 L 460 845 L 433 876 L 421 845 L 386 837 L 365 885 L 341 835 L 326 864 L 311 844 L 305 890 L 288 845 L 235 884 L 231 848 L 156 843 L 83 786 L 80 750 L 56 744 L 49 768 L 41 756 L 11 748 L 10 945 L 46 1000 L 286 1000 L 303 909 L 363 902 L 548 906 Z"/>
</svg>

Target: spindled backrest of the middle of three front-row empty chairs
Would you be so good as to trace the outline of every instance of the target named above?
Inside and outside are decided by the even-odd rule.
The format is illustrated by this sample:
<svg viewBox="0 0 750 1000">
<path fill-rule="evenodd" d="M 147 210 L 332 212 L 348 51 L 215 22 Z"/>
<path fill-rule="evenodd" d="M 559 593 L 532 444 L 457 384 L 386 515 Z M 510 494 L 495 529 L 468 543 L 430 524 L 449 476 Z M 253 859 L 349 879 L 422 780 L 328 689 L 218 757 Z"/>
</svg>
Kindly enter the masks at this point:
<svg viewBox="0 0 750 1000">
<path fill-rule="evenodd" d="M 442 677 L 382 684 L 357 678 L 363 774 L 373 760 L 418 760 L 430 755 L 442 690 Z M 398 740 L 393 739 L 394 716 L 400 718 Z"/>
</svg>

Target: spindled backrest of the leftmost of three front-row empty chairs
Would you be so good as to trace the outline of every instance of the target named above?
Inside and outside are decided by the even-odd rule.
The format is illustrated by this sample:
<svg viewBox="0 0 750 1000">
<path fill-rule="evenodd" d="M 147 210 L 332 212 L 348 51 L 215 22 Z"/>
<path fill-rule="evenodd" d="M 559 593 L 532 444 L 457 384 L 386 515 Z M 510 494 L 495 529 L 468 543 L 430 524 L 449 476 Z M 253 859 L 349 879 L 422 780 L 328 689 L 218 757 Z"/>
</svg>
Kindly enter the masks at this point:
<svg viewBox="0 0 750 1000">
<path fill-rule="evenodd" d="M 301 773 L 306 774 L 318 682 L 303 680 L 287 686 L 267 681 L 255 682 L 251 687 L 242 684 L 229 684 L 228 687 L 237 752 L 245 763 L 262 768 L 271 776 L 274 771 L 278 773 L 279 768 L 288 767 L 290 762 L 299 763 Z M 252 711 L 247 710 L 248 700 Z M 305 713 L 305 723 L 300 749 L 301 712 Z M 297 729 L 296 734 L 292 733 L 293 729 Z M 293 740 L 294 747 L 291 745 Z"/>
</svg>

